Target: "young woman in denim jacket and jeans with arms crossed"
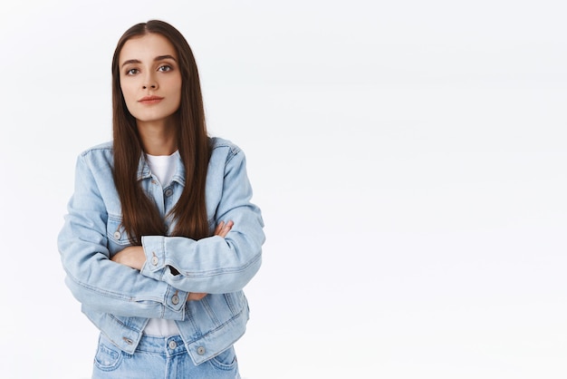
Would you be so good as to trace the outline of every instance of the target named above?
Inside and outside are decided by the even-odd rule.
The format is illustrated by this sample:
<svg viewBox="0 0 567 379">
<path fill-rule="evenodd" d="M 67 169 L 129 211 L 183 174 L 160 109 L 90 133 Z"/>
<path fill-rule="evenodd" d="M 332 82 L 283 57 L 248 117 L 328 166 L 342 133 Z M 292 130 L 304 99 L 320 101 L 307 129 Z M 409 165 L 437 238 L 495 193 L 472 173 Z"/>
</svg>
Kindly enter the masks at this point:
<svg viewBox="0 0 567 379">
<path fill-rule="evenodd" d="M 264 243 L 245 155 L 208 137 L 193 53 L 167 23 L 122 35 L 112 103 L 113 141 L 79 156 L 58 238 L 101 330 L 92 377 L 237 378 Z"/>
</svg>

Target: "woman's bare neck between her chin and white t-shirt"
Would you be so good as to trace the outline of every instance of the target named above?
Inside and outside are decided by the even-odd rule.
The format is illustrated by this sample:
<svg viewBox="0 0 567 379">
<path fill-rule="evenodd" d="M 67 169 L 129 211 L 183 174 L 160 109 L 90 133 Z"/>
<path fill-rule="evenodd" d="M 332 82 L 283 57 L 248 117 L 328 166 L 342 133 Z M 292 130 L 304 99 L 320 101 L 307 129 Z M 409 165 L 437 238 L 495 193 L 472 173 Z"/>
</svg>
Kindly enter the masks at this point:
<svg viewBox="0 0 567 379">
<path fill-rule="evenodd" d="M 178 150 L 177 129 L 172 121 L 137 121 L 144 151 L 149 155 L 171 155 Z"/>
</svg>

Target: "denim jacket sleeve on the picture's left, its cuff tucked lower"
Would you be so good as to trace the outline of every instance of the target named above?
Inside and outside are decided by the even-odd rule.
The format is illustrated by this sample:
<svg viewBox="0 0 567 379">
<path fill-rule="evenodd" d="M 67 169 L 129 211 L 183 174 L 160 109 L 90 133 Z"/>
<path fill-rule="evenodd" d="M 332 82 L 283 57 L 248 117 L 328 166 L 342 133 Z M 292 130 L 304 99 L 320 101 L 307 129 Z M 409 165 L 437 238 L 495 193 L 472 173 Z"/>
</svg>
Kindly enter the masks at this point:
<svg viewBox="0 0 567 379">
<path fill-rule="evenodd" d="M 112 178 L 93 175 L 90 166 L 84 154 L 77 160 L 75 189 L 58 237 L 65 284 L 79 302 L 104 313 L 183 320 L 186 292 L 111 261 L 101 186 L 113 188 Z"/>
</svg>

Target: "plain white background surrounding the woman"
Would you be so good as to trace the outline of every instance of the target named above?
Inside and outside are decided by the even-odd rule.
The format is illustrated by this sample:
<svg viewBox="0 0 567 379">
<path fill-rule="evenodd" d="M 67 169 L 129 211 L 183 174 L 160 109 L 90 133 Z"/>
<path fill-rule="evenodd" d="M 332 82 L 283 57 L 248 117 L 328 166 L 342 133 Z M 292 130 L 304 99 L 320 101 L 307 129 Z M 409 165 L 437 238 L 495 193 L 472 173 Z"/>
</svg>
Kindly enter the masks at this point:
<svg viewBox="0 0 567 379">
<path fill-rule="evenodd" d="M 567 377 L 563 4 L 3 2 L 0 376 L 90 376 L 56 236 L 115 44 L 159 18 L 264 213 L 245 378 Z"/>
</svg>

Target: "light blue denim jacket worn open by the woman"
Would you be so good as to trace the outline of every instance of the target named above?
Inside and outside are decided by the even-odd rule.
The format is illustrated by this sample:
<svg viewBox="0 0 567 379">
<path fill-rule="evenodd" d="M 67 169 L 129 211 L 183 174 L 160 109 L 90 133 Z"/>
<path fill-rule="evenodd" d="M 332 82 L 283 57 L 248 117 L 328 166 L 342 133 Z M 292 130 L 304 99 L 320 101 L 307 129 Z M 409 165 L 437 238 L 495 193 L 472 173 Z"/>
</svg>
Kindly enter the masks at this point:
<svg viewBox="0 0 567 379">
<path fill-rule="evenodd" d="M 242 289 L 261 265 L 264 222 L 260 209 L 250 202 L 244 152 L 230 141 L 211 138 L 210 143 L 209 228 L 221 220 L 233 220 L 233 228 L 226 238 L 142 236 L 146 263 L 140 271 L 111 261 L 130 246 L 112 179 L 111 142 L 78 157 L 75 189 L 58 237 L 65 284 L 82 303 L 82 312 L 124 352 L 134 353 L 149 318 L 175 320 L 196 364 L 226 350 L 245 333 L 248 305 Z M 162 188 L 152 176 L 144 157 L 138 180 L 173 230 L 168 212 L 185 185 L 180 158 L 168 187 Z M 209 295 L 187 301 L 189 292 Z"/>
</svg>

